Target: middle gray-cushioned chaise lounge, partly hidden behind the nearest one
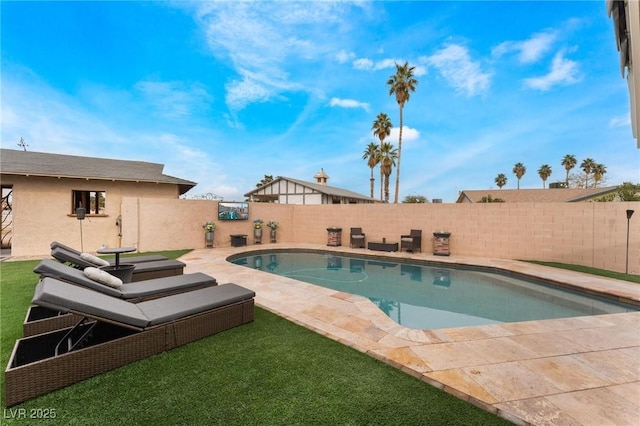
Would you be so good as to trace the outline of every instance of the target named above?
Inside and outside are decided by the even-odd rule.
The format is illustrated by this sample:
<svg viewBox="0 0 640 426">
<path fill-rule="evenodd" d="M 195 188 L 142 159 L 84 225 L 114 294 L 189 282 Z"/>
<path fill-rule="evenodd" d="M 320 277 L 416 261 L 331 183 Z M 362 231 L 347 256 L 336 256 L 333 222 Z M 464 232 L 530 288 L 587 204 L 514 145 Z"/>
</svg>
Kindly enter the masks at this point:
<svg viewBox="0 0 640 426">
<path fill-rule="evenodd" d="M 134 303 L 217 285 L 215 278 L 201 272 L 196 272 L 193 274 L 137 281 L 114 288 L 87 277 L 84 272 L 79 269 L 63 265 L 51 259 L 42 260 L 36 265 L 33 272 L 39 274 L 41 278 L 56 278 Z M 79 318 L 73 314 L 51 310 L 42 306 L 31 306 L 22 324 L 23 336 L 27 337 L 71 327 L 76 324 L 78 320 Z"/>
</svg>

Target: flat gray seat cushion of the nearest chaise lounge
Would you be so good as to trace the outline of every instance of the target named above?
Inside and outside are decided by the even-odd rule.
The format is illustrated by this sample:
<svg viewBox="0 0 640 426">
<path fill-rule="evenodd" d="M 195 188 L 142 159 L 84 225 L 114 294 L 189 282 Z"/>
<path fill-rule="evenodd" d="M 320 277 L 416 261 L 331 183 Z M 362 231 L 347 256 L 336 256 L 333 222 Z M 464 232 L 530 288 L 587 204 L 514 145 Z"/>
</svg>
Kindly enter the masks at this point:
<svg viewBox="0 0 640 426">
<path fill-rule="evenodd" d="M 138 303 L 149 318 L 149 324 L 162 324 L 220 306 L 252 299 L 255 293 L 236 284 L 222 284 L 200 290 L 188 291 L 160 299 Z"/>
</svg>

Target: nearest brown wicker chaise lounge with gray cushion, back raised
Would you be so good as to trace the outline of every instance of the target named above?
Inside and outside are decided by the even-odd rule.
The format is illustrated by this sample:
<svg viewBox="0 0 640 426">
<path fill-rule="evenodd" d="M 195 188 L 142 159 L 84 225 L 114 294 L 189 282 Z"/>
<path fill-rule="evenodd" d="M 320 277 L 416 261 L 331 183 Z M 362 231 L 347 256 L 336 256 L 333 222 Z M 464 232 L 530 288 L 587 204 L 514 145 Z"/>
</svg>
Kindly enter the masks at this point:
<svg viewBox="0 0 640 426">
<path fill-rule="evenodd" d="M 251 322 L 254 296 L 223 284 L 131 303 L 43 278 L 33 304 L 95 321 L 17 340 L 5 370 L 6 405 Z"/>
</svg>

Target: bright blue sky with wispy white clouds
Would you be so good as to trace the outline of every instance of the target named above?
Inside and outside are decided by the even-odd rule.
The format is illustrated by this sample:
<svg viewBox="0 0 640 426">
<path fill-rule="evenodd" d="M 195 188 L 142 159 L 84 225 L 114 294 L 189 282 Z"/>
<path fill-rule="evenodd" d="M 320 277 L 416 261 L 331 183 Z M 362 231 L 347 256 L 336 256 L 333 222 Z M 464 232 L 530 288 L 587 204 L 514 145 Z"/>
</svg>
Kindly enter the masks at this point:
<svg viewBox="0 0 640 426">
<path fill-rule="evenodd" d="M 640 181 L 604 1 L 7 2 L 3 148 L 165 164 L 189 197 L 241 200 L 264 175 L 369 194 L 363 151 L 386 82 L 414 65 L 400 193 L 564 180 L 562 157 Z M 577 172 L 578 169 L 574 169 Z M 375 170 L 376 196 L 379 172 Z M 391 176 L 391 200 L 393 182 Z"/>
</svg>

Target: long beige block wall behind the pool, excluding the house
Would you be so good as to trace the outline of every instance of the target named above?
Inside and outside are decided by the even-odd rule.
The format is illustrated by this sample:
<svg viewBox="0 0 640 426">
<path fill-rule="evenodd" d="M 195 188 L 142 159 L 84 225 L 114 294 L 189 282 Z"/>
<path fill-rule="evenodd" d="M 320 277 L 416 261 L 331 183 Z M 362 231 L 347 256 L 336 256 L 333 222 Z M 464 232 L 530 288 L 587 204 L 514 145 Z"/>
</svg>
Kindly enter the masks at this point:
<svg viewBox="0 0 640 426">
<path fill-rule="evenodd" d="M 343 245 L 349 244 L 351 227 L 361 227 L 367 241 L 386 238 L 387 242 L 421 229 L 422 250 L 431 253 L 433 232 L 448 231 L 452 255 L 556 261 L 624 272 L 627 209 L 635 210 L 629 222 L 629 272 L 640 274 L 640 202 L 250 203 L 249 221 L 224 222 L 216 220 L 216 201 L 132 198 L 123 200 L 123 245 L 137 242 L 140 251 L 202 248 L 205 220 L 217 224 L 214 246 L 229 246 L 231 234 L 247 234 L 253 244 L 253 220 L 261 218 L 280 223 L 278 242 L 326 244 L 327 228 L 333 226 L 343 229 Z M 128 229 L 136 234 L 130 235 Z M 265 228 L 263 245 L 268 244 L 267 233 Z"/>
</svg>

